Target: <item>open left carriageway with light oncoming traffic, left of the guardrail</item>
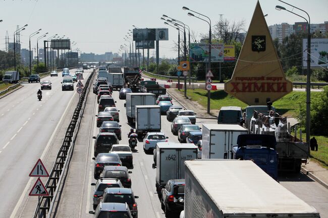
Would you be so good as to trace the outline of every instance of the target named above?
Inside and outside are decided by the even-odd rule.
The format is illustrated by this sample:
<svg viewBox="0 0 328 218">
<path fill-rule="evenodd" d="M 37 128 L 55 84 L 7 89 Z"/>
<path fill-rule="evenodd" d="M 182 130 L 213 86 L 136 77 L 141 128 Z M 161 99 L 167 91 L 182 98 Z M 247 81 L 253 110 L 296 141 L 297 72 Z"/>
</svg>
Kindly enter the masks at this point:
<svg viewBox="0 0 328 218">
<path fill-rule="evenodd" d="M 74 72 L 74 69 L 71 71 Z M 88 77 L 90 72 L 85 71 L 83 76 Z M 1 218 L 11 216 L 22 193 L 28 195 L 30 190 L 26 187 L 30 185 L 30 171 L 35 162 L 47 153 L 48 141 L 67 112 L 68 104 L 73 96 L 77 98 L 76 87 L 74 91 L 61 90 L 61 74 L 43 80 L 50 80 L 52 89 L 42 91 L 42 101 L 38 101 L 36 96 L 39 83 L 25 83 L 23 88 L 0 100 Z"/>
</svg>

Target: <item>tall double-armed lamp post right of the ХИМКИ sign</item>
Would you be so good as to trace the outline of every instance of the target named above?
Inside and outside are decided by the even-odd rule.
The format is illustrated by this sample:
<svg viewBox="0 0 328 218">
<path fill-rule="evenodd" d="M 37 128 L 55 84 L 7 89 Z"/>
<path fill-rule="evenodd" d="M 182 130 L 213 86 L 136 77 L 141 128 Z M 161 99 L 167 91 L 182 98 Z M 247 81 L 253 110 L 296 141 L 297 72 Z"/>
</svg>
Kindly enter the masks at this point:
<svg viewBox="0 0 328 218">
<path fill-rule="evenodd" d="M 289 5 L 293 8 L 296 8 L 296 9 L 304 12 L 307 15 L 308 19 L 309 19 L 309 20 L 307 20 L 306 18 L 304 18 L 304 17 L 302 17 L 302 16 L 300 16 L 300 15 L 298 15 L 298 14 L 292 12 L 292 11 L 287 10 L 286 8 L 284 8 L 282 6 L 276 6 L 276 9 L 278 11 L 285 10 L 285 11 L 288 11 L 288 12 L 290 12 L 290 13 L 298 16 L 298 17 L 303 18 L 307 22 L 307 25 L 308 25 L 308 27 L 307 27 L 307 62 L 306 62 L 307 63 L 307 68 L 306 68 L 306 126 L 305 126 L 305 128 L 306 128 L 306 142 L 308 143 L 308 148 L 309 148 L 310 128 L 311 128 L 311 114 L 310 114 L 310 110 L 311 110 L 311 92 L 310 92 L 310 89 L 311 89 L 310 88 L 311 87 L 310 86 L 310 83 L 311 83 L 311 75 L 310 75 L 310 70 L 311 70 L 311 62 L 310 62 L 311 61 L 311 25 L 310 25 L 310 16 L 306 11 L 304 11 L 300 8 L 297 8 L 297 7 L 295 7 L 293 5 L 290 5 L 286 2 L 283 2 L 281 0 L 278 0 L 278 1 L 282 2 L 282 3 L 285 3 L 286 5 Z"/>
</svg>

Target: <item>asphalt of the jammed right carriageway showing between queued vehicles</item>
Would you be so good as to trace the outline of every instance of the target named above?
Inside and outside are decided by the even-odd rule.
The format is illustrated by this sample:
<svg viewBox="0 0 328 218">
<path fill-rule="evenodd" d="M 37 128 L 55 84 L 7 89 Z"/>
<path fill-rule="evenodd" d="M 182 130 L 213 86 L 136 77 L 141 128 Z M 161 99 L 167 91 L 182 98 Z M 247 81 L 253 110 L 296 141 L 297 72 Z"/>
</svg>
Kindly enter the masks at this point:
<svg viewBox="0 0 328 218">
<path fill-rule="evenodd" d="M 113 97 L 120 110 L 120 124 L 122 125 L 122 140 L 127 144 L 131 126 L 127 124 L 124 102 L 119 100 L 118 92 L 114 91 Z M 173 102 L 178 105 L 177 102 Z M 92 186 L 93 179 L 93 139 L 99 131 L 95 126 L 96 100 L 92 91 L 89 93 L 82 127 L 78 135 L 77 145 L 74 150 L 67 180 L 62 192 L 56 217 L 93 217 L 92 211 Z M 215 120 L 197 119 L 198 125 L 202 123 L 215 123 Z M 169 141 L 178 142 L 177 136 L 171 133 L 171 123 L 166 116 L 161 117 L 162 131 L 169 136 Z M 155 191 L 155 169 L 152 169 L 152 155 L 143 152 L 142 142 L 138 143 L 137 151 L 133 154 L 132 189 L 139 198 L 138 217 L 163 218 L 165 217 Z M 281 175 L 280 184 L 296 194 L 298 197 L 315 207 L 321 217 L 328 217 L 328 190 L 304 174 Z"/>
</svg>

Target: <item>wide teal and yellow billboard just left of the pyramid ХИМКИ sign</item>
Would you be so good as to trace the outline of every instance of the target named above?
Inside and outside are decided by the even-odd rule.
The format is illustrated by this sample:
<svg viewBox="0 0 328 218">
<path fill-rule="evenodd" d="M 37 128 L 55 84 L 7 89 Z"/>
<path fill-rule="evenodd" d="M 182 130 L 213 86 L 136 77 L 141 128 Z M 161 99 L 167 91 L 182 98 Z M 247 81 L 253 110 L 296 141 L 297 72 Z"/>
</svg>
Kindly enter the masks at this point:
<svg viewBox="0 0 328 218">
<path fill-rule="evenodd" d="M 208 62 L 208 43 L 190 43 L 190 62 Z M 211 62 L 223 62 L 224 45 L 212 44 Z"/>
</svg>

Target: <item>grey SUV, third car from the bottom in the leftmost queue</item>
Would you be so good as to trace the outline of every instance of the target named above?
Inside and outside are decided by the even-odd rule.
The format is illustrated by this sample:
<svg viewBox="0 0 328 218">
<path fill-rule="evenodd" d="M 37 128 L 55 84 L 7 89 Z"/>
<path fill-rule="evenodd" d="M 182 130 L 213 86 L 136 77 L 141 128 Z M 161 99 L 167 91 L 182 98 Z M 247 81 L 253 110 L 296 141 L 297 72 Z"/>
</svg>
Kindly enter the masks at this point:
<svg viewBox="0 0 328 218">
<path fill-rule="evenodd" d="M 96 183 L 91 183 L 93 188 L 93 210 L 95 210 L 99 204 L 99 197 L 102 196 L 105 188 L 123 188 L 123 185 L 119 179 L 98 179 Z"/>
</svg>

